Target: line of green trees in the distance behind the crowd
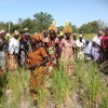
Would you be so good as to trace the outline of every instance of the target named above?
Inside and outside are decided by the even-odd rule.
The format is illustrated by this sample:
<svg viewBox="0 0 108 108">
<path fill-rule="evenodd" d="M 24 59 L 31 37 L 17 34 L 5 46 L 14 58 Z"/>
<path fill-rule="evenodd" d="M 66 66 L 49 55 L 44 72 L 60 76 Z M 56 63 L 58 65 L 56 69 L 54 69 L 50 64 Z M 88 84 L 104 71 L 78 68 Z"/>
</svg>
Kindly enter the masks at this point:
<svg viewBox="0 0 108 108">
<path fill-rule="evenodd" d="M 54 18 L 51 14 L 43 13 L 43 12 L 36 13 L 33 15 L 33 19 L 29 17 L 26 19 L 18 18 L 17 24 L 13 24 L 12 22 L 10 22 L 10 25 L 11 25 L 10 32 L 13 32 L 14 30 L 18 30 L 22 33 L 25 27 L 29 29 L 30 33 L 33 33 L 36 31 L 39 32 L 44 29 L 48 29 L 52 21 L 54 21 Z M 58 32 L 63 30 L 64 26 L 62 25 L 57 27 Z M 105 29 L 107 27 L 107 24 L 98 19 L 98 21 L 90 22 L 87 24 L 83 24 L 79 28 L 76 25 L 71 25 L 71 26 L 72 26 L 73 32 L 77 32 L 77 33 L 78 32 L 79 33 L 96 33 L 98 30 Z M 5 29 L 6 31 L 9 31 L 9 22 L 4 23 L 0 21 L 0 29 Z"/>
</svg>

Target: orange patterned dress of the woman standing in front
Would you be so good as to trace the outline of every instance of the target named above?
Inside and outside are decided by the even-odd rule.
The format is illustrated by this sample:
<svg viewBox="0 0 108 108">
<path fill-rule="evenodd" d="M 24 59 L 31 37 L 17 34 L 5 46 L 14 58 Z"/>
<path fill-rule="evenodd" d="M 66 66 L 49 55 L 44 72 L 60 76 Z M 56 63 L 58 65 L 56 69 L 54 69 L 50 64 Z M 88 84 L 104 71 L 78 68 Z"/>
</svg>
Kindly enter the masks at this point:
<svg viewBox="0 0 108 108">
<path fill-rule="evenodd" d="M 43 57 L 46 57 L 46 51 L 44 48 L 39 48 L 36 51 L 32 51 L 28 54 L 28 67 L 40 64 L 43 60 Z M 30 75 L 30 93 L 31 95 L 37 92 L 37 89 L 43 84 L 44 78 L 46 76 L 48 69 L 46 66 L 39 66 Z"/>
</svg>

